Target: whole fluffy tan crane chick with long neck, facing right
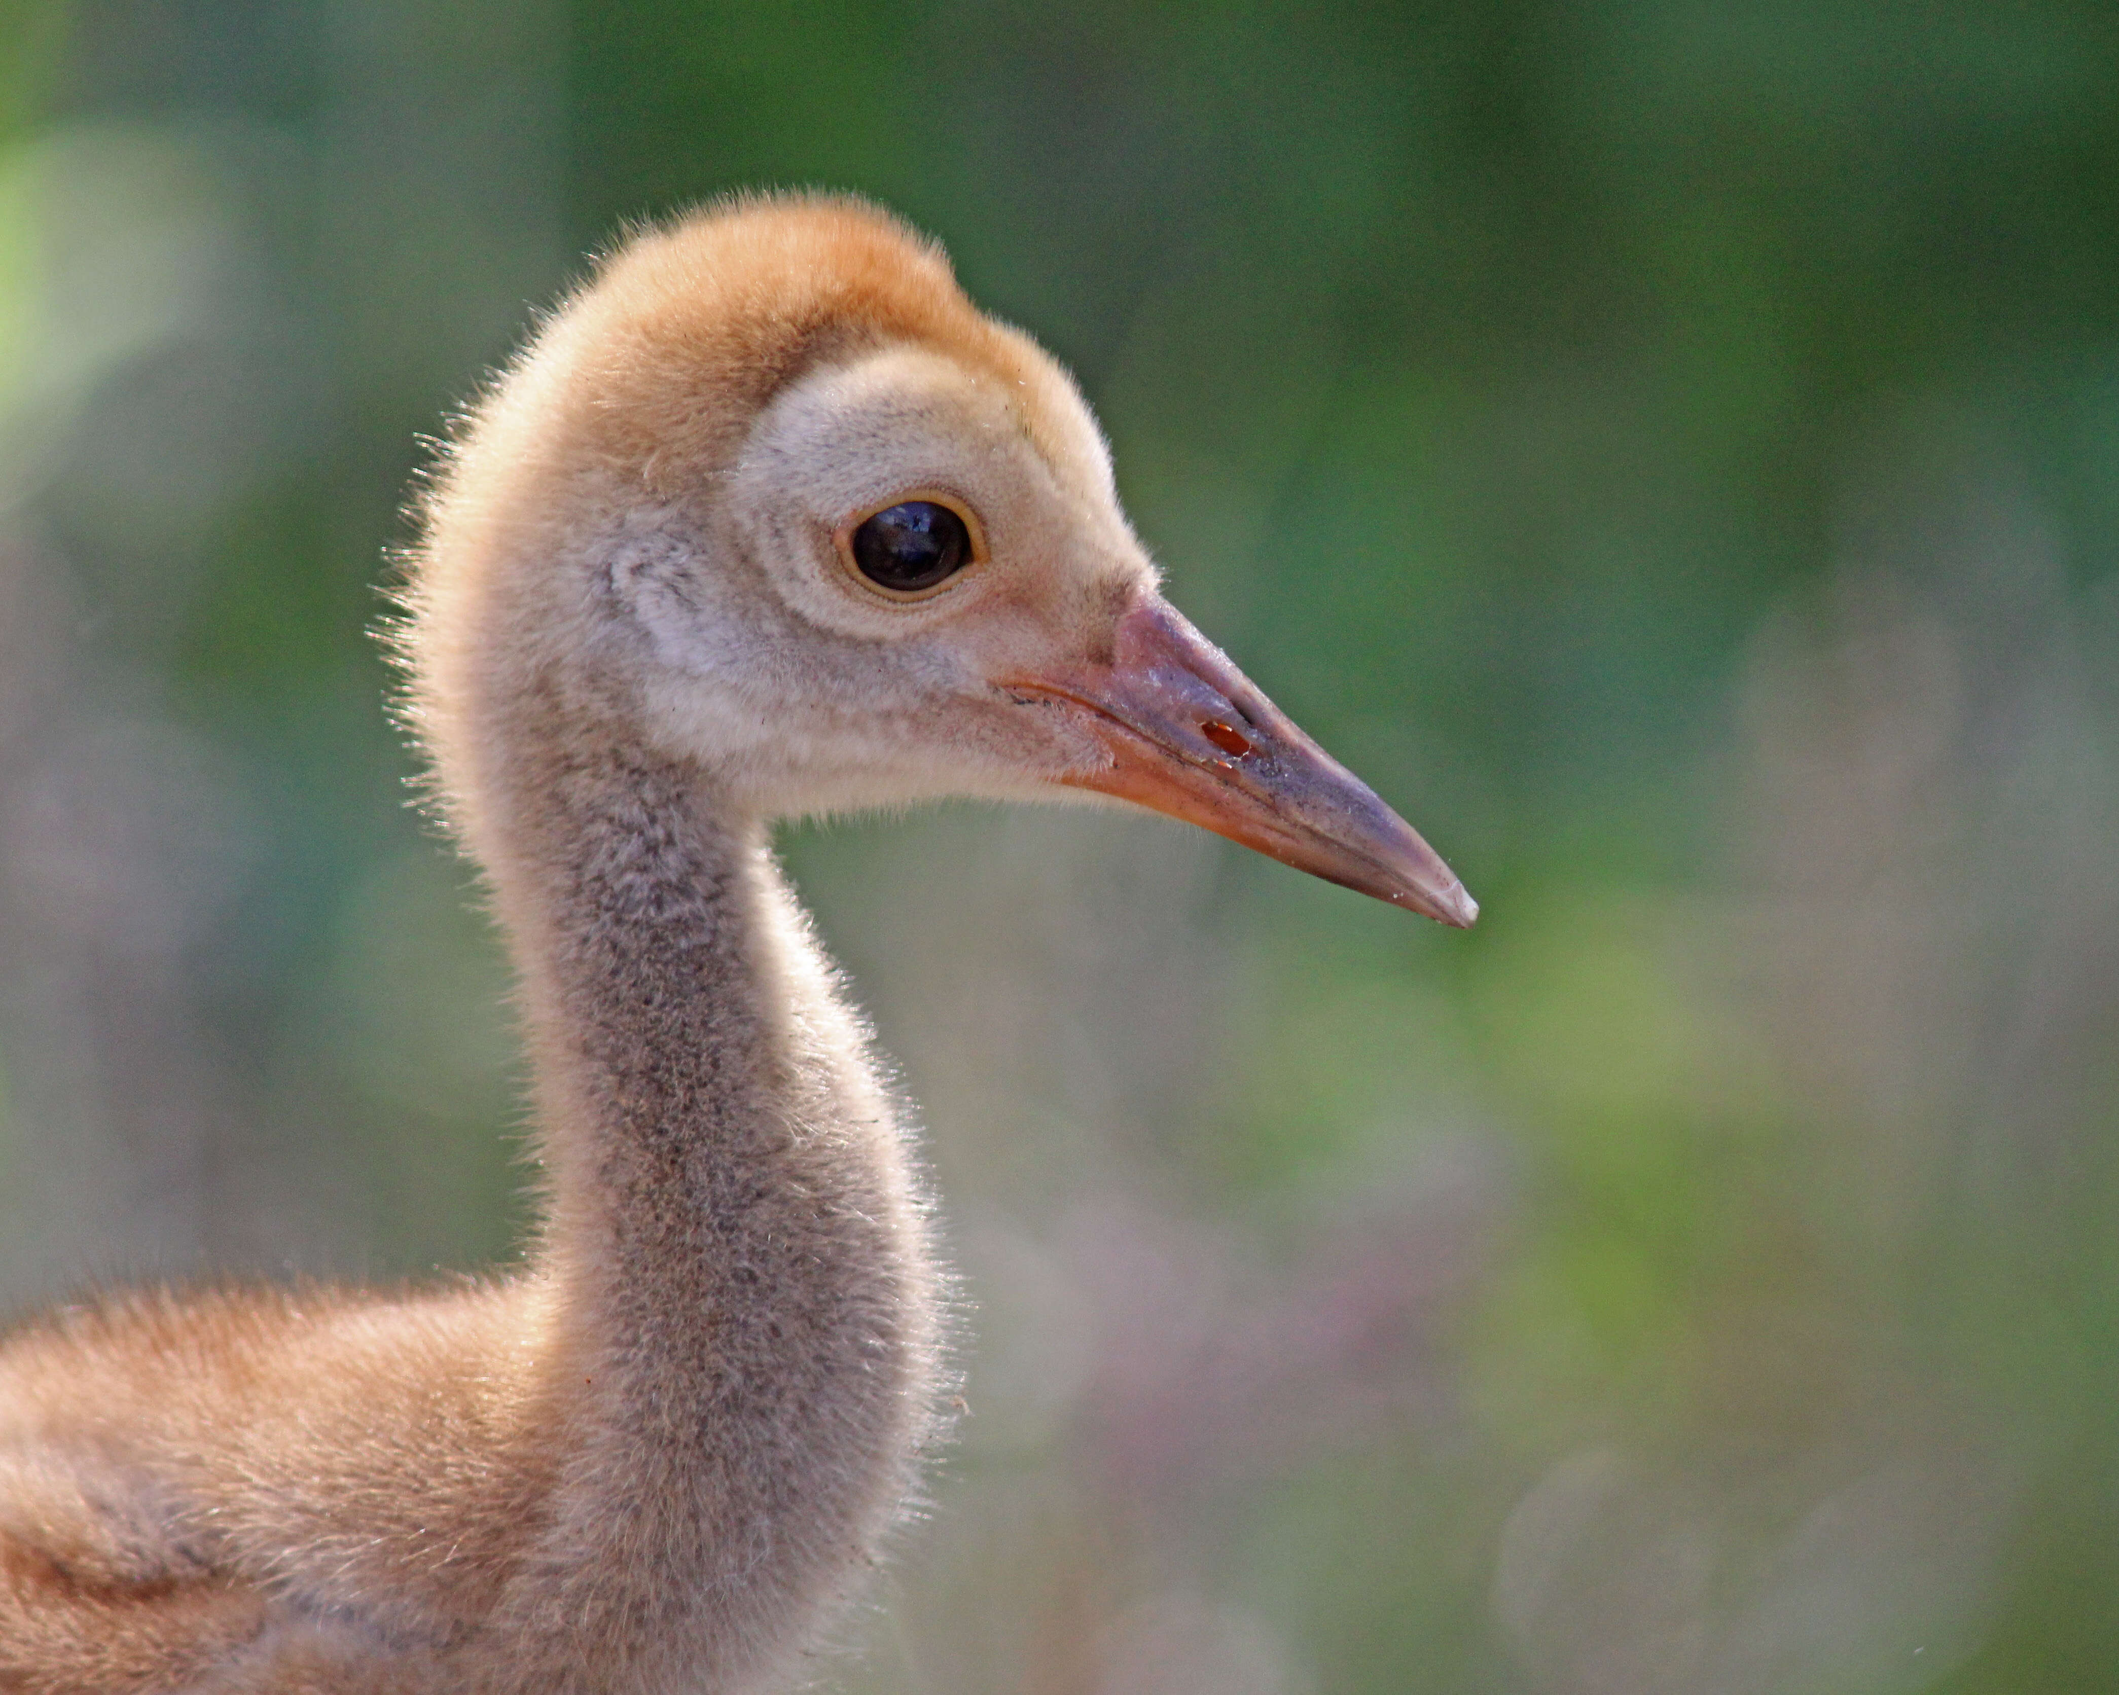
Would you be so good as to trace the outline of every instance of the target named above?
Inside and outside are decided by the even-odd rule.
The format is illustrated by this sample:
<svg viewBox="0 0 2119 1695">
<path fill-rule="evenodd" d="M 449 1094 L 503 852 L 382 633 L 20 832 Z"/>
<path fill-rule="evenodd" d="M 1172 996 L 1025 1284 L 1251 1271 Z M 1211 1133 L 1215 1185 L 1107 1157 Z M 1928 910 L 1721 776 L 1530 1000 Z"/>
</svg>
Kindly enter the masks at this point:
<svg viewBox="0 0 2119 1695">
<path fill-rule="evenodd" d="M 1168 608 L 1066 375 L 865 206 L 638 237 L 424 508 L 407 716 L 509 936 L 542 1223 L 489 1282 L 0 1345 L 8 1695 L 799 1676 L 943 1432 L 947 1280 L 773 820 L 1102 795 L 1473 913 Z"/>
</svg>

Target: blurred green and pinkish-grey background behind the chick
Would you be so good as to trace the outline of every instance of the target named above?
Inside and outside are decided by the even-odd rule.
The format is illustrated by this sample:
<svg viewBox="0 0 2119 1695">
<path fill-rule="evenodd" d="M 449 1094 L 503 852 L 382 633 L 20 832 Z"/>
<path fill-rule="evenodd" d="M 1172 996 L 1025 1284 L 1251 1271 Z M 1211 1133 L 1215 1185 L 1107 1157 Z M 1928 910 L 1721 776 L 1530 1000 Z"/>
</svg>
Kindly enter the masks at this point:
<svg viewBox="0 0 2119 1695">
<path fill-rule="evenodd" d="M 1485 903 L 790 835 L 977 1303 L 820 1676 L 2119 1689 L 2108 0 L 6 0 L 0 1301 L 509 1254 L 373 585 L 581 254 L 759 184 L 1053 347 Z"/>
</svg>

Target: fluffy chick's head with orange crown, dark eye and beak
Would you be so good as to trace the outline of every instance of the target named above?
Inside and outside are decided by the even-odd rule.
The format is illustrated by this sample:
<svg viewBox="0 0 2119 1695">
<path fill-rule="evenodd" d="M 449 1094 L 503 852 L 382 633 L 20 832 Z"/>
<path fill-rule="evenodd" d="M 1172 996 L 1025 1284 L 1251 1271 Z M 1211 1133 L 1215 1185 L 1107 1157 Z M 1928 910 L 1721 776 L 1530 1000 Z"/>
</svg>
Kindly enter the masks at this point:
<svg viewBox="0 0 2119 1695">
<path fill-rule="evenodd" d="M 447 642 L 466 595 L 511 638 Z M 434 727 L 534 680 L 759 816 L 1106 799 L 1477 915 L 1161 595 L 1068 375 L 856 201 L 625 246 L 473 415 L 413 597 L 445 780 Z"/>
</svg>

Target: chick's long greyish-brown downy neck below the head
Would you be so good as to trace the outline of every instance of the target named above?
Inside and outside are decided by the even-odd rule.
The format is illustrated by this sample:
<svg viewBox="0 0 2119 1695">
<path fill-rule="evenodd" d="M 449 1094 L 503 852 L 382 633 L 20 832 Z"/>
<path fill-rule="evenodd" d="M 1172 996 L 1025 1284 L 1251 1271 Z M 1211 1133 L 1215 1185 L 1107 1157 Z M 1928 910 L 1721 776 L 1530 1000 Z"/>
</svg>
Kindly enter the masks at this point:
<svg viewBox="0 0 2119 1695">
<path fill-rule="evenodd" d="M 534 735 L 500 767 L 566 1432 L 549 1549 L 581 1587 L 553 1617 L 670 1608 L 714 1655 L 801 1640 L 930 1434 L 907 1148 L 761 820 L 619 739 Z"/>
</svg>

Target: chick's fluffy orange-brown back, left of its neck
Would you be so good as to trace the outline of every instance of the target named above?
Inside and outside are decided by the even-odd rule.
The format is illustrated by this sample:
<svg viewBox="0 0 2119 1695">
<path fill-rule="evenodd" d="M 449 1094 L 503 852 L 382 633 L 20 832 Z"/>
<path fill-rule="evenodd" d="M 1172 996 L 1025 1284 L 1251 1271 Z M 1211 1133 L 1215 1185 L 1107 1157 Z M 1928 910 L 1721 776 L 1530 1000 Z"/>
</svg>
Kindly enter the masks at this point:
<svg viewBox="0 0 2119 1695">
<path fill-rule="evenodd" d="M 509 1371 L 528 1305 L 519 1284 L 142 1290 L 17 1333 L 0 1691 L 451 1687 L 422 1642 L 489 1610 L 536 1470 Z"/>
</svg>

